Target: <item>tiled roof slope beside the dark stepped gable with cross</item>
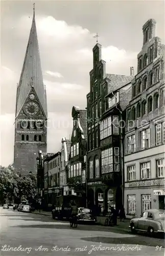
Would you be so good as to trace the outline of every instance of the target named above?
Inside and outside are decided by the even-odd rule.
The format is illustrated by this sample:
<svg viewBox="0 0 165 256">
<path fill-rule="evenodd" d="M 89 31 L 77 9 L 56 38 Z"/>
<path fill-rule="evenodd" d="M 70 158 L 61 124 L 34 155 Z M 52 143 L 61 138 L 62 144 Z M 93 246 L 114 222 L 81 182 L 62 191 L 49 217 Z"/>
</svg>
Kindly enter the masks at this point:
<svg viewBox="0 0 165 256">
<path fill-rule="evenodd" d="M 113 92 L 121 87 L 125 86 L 127 83 L 130 83 L 134 76 L 125 76 L 125 75 L 114 75 L 106 74 L 106 77 L 110 80 L 110 85 L 108 86 L 108 94 Z"/>
</svg>

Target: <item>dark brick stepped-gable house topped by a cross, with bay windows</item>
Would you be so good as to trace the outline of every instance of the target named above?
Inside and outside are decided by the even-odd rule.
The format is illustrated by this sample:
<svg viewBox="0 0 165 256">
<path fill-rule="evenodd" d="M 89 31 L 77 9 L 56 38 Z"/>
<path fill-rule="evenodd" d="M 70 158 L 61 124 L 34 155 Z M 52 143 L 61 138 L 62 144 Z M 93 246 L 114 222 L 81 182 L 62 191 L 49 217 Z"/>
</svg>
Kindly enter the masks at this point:
<svg viewBox="0 0 165 256">
<path fill-rule="evenodd" d="M 122 204 L 122 119 L 119 91 L 128 89 L 133 76 L 106 74 L 101 45 L 93 48 L 90 93 L 87 94 L 87 197 L 88 205 L 108 210 Z M 113 92 L 115 93 L 113 95 Z"/>
</svg>

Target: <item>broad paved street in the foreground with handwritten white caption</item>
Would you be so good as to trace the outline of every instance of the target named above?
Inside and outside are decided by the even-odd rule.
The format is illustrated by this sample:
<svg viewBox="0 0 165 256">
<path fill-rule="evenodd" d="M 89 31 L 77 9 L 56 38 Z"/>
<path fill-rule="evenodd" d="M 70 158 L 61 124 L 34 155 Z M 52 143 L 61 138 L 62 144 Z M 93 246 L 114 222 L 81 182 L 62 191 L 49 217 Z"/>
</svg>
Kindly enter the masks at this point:
<svg viewBox="0 0 165 256">
<path fill-rule="evenodd" d="M 164 255 L 163 240 L 119 228 L 78 225 L 1 209 L 1 255 Z M 11 247 L 16 247 L 12 251 Z M 27 251 L 22 251 L 27 248 Z M 63 249 L 58 249 L 63 248 Z M 65 248 L 65 249 L 64 249 Z M 65 250 L 65 251 L 62 251 Z"/>
</svg>

